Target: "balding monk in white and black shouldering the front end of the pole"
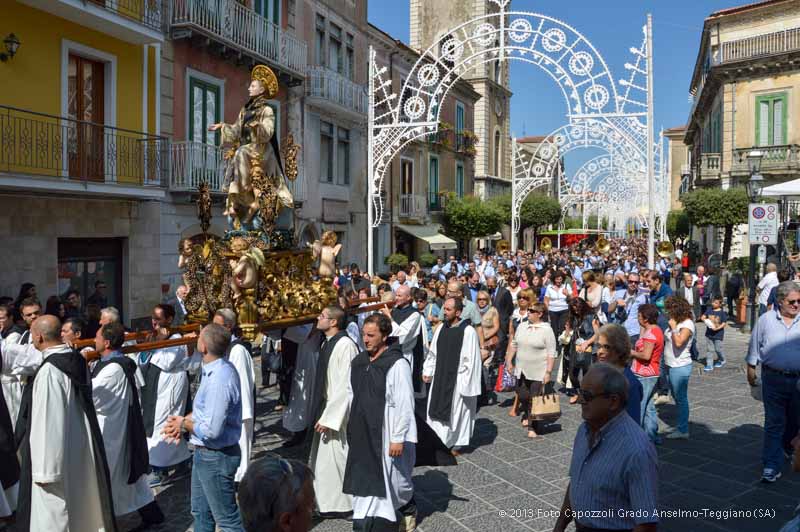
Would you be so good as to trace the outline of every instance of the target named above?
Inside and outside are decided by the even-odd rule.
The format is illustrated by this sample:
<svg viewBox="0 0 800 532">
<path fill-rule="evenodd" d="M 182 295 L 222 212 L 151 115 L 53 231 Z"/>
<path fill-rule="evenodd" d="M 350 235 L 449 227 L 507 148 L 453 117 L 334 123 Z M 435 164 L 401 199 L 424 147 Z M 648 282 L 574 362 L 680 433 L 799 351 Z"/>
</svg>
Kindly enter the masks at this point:
<svg viewBox="0 0 800 532">
<path fill-rule="evenodd" d="M 392 336 L 397 337 L 403 356 L 411 364 L 414 393 L 417 397 L 424 397 L 422 365 L 425 361 L 427 334 L 423 316 L 413 304 L 411 290 L 408 285 L 400 285 L 394 295 L 394 308 L 389 311 L 388 307 L 384 307 L 381 312 L 392 320 Z"/>
</svg>

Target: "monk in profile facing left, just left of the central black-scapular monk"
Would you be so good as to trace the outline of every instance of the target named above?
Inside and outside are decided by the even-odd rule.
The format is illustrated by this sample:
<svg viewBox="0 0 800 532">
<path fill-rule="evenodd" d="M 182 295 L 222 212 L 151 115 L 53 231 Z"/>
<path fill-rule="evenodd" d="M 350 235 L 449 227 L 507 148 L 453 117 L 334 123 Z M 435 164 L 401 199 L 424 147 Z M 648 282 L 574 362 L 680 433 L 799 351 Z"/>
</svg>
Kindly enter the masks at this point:
<svg viewBox="0 0 800 532">
<path fill-rule="evenodd" d="M 319 353 L 314 386 L 314 439 L 309 464 L 314 471 L 314 492 L 323 516 L 353 511 L 353 498 L 342 493 L 347 465 L 347 421 L 350 414 L 350 363 L 358 355 L 345 330 L 341 307 L 325 308 L 317 329 L 325 335 Z"/>
</svg>

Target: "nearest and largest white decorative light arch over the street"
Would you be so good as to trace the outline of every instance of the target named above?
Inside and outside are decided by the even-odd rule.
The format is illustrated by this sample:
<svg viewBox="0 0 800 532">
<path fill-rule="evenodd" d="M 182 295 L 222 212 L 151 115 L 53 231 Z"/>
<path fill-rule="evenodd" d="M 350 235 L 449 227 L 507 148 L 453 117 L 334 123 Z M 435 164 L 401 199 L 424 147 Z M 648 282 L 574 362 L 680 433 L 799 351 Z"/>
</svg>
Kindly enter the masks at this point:
<svg viewBox="0 0 800 532">
<path fill-rule="evenodd" d="M 643 157 L 649 163 L 648 167 L 652 167 L 652 154 L 645 149 L 645 146 L 653 145 L 651 83 L 648 80 L 642 88 L 635 81 L 638 75 L 649 75 L 652 71 L 651 65 L 641 65 L 642 60 L 649 60 L 649 33 L 639 49 L 631 49 L 637 58 L 635 64 L 626 65 L 631 76 L 629 80 L 620 82 L 625 87 L 620 95 L 605 60 L 573 27 L 538 13 L 506 11 L 510 0 L 487 2 L 495 5 L 497 11 L 461 24 L 421 53 L 399 98 L 391 90 L 391 80 L 384 78 L 386 67 L 378 67 L 375 50 L 370 48 L 367 206 L 370 273 L 374 273 L 373 228 L 383 218 L 381 189 L 391 161 L 409 143 L 437 131 L 440 103 L 461 77 L 485 63 L 517 60 L 541 68 L 558 84 L 564 97 L 569 121 L 565 127 L 576 131 L 583 128 L 588 136 L 591 136 L 590 127 L 601 130 L 604 137 L 616 135 L 613 153 Z M 632 90 L 638 89 L 647 92 L 647 102 L 638 101 L 631 95 Z M 639 109 L 626 112 L 627 103 Z M 646 123 L 641 121 L 644 117 Z M 640 137 L 645 137 L 645 142 L 641 142 Z M 482 140 L 489 142 L 493 139 Z M 553 176 L 556 164 L 557 161 L 553 161 L 546 165 L 541 176 L 528 173 L 525 179 Z M 521 185 L 519 192 L 524 194 L 515 193 L 513 201 L 521 205 L 527 193 L 535 188 L 530 185 L 530 181 Z M 512 190 L 516 191 L 515 187 L 516 183 L 513 183 Z M 516 212 L 518 214 L 518 209 Z M 516 239 L 512 242 L 516 245 Z"/>
</svg>

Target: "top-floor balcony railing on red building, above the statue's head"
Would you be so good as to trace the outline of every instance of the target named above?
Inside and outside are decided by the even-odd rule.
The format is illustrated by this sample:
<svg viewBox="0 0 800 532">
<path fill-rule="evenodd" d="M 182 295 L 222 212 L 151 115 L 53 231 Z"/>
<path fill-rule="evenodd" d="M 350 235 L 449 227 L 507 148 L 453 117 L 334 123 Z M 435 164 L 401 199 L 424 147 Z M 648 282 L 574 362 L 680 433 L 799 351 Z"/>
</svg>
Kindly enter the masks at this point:
<svg viewBox="0 0 800 532">
<path fill-rule="evenodd" d="M 257 61 L 306 74 L 306 43 L 237 0 L 171 0 L 173 37 L 205 35 Z"/>
</svg>

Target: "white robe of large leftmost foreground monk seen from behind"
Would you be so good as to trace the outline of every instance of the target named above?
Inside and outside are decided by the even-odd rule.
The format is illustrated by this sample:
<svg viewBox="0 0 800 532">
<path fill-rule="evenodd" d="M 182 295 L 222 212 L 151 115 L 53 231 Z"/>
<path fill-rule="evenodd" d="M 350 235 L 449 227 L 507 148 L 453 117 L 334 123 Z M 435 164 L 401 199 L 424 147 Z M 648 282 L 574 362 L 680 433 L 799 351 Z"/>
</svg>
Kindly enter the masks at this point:
<svg viewBox="0 0 800 532">
<path fill-rule="evenodd" d="M 45 349 L 43 356 L 68 350 Z M 31 405 L 32 531 L 105 531 L 89 422 L 69 377 L 39 370 Z"/>
</svg>

